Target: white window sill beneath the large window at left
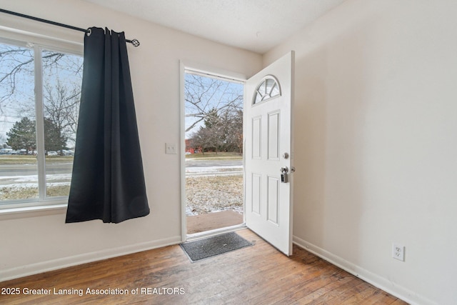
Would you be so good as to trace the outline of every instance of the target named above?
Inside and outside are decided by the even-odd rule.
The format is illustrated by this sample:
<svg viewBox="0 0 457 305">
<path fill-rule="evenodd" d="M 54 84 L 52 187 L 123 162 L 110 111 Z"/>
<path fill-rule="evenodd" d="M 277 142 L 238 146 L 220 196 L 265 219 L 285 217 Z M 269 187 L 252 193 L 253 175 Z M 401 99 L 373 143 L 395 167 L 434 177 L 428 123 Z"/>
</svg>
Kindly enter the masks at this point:
<svg viewBox="0 0 457 305">
<path fill-rule="evenodd" d="M 0 221 L 65 213 L 66 204 L 50 204 L 45 206 L 27 206 L 21 208 L 0 209 Z"/>
</svg>

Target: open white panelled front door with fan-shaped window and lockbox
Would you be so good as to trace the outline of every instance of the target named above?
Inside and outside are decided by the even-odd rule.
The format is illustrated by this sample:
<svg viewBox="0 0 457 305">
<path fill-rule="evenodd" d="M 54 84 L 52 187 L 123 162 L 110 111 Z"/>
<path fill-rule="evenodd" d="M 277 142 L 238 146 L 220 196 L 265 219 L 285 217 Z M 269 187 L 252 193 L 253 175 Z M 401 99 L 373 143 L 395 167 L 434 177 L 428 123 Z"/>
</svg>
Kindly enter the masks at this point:
<svg viewBox="0 0 457 305">
<path fill-rule="evenodd" d="M 293 64 L 291 51 L 252 76 L 245 99 L 246 226 L 286 255 L 292 254 Z"/>
</svg>

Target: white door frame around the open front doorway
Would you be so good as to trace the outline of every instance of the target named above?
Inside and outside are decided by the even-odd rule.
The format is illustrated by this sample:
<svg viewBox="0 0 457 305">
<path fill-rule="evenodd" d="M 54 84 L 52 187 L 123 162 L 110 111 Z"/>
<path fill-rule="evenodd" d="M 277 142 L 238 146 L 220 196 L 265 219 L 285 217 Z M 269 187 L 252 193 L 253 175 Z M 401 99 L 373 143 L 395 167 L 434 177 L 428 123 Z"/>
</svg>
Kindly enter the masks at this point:
<svg viewBox="0 0 457 305">
<path fill-rule="evenodd" d="M 201 74 L 208 74 L 214 77 L 220 77 L 221 79 L 231 80 L 231 81 L 240 81 L 243 84 L 246 83 L 248 77 L 244 74 L 239 74 L 233 71 L 228 71 L 224 69 L 217 69 L 212 66 L 208 66 L 206 64 L 196 63 L 193 61 L 179 61 L 179 86 L 180 86 L 180 145 L 179 145 L 179 157 L 180 157 L 180 175 L 181 175 L 181 241 L 189 240 L 187 235 L 187 215 L 186 215 L 186 107 L 185 107 L 185 100 L 184 100 L 184 92 L 185 92 L 185 73 L 186 70 L 192 70 Z M 245 93 L 246 93 L 246 86 L 245 86 Z M 243 138 L 244 138 L 244 131 L 245 131 L 245 116 L 244 116 L 244 107 L 246 106 L 246 94 L 243 96 Z M 243 149 L 243 164 L 244 164 L 244 149 Z M 246 209 L 245 200 L 244 200 L 244 193 L 245 193 L 245 186 L 243 181 L 243 209 Z M 195 234 L 198 235 L 196 238 L 201 238 L 204 236 L 211 236 L 215 234 L 221 234 L 224 231 L 233 231 L 233 229 L 243 228 L 245 227 L 244 224 L 246 223 L 246 216 L 243 213 L 243 224 L 237 226 L 231 226 L 229 228 L 224 229 L 216 229 L 212 231 L 204 232 L 203 234 Z"/>
</svg>

